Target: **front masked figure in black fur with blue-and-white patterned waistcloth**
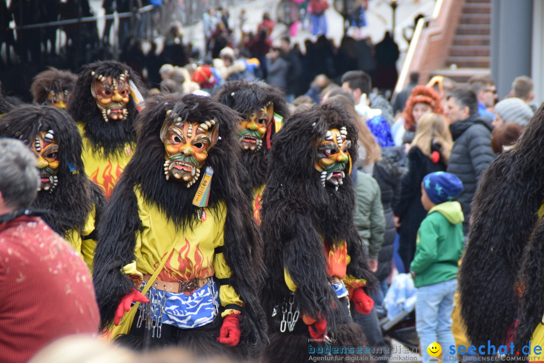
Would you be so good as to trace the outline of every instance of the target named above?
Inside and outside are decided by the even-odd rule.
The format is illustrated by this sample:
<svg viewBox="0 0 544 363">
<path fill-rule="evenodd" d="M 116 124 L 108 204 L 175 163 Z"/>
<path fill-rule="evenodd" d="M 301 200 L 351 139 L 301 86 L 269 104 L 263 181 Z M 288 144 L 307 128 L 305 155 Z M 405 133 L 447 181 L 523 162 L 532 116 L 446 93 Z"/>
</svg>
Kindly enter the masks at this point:
<svg viewBox="0 0 544 363">
<path fill-rule="evenodd" d="M 112 338 L 244 356 L 266 343 L 262 242 L 238 184 L 238 120 L 207 96 L 146 100 L 96 248 L 101 326 L 117 325 Z"/>
</svg>

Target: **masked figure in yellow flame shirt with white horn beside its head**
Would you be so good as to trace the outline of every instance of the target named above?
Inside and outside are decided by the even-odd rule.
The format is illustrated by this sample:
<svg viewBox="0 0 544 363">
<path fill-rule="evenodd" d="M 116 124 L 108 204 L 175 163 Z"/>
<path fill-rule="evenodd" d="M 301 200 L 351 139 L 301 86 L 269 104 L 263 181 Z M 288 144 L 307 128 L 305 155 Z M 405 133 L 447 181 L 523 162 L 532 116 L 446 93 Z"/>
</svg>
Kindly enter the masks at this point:
<svg viewBox="0 0 544 363">
<path fill-rule="evenodd" d="M 85 171 L 108 198 L 134 152 L 138 88 L 140 79 L 129 66 L 98 61 L 82 67 L 68 103 L 83 136 Z"/>
</svg>

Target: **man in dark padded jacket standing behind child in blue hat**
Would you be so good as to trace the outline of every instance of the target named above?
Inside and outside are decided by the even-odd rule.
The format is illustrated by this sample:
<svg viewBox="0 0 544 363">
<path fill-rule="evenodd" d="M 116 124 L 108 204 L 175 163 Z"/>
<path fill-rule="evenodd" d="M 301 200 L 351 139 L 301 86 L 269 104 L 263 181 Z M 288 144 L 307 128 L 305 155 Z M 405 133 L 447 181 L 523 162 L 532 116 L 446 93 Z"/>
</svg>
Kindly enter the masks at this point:
<svg viewBox="0 0 544 363">
<path fill-rule="evenodd" d="M 459 177 L 464 189 L 457 199 L 465 214 L 463 233 L 468 233 L 471 201 L 478 180 L 494 158 L 491 149 L 492 126 L 478 114 L 476 95 L 467 89 L 454 89 L 447 97 L 446 116 L 454 145 L 448 163 L 448 173 Z"/>
</svg>

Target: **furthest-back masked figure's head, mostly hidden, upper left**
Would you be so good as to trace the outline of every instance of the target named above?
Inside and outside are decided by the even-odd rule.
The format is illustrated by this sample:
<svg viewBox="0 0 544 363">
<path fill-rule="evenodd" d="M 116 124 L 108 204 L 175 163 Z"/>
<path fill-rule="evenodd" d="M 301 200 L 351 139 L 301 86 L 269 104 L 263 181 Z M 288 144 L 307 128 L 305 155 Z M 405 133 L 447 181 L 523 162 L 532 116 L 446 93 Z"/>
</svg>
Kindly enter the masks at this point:
<svg viewBox="0 0 544 363">
<path fill-rule="evenodd" d="M 38 73 L 30 86 L 30 93 L 36 103 L 66 109 L 77 75 L 54 67 Z"/>
</svg>

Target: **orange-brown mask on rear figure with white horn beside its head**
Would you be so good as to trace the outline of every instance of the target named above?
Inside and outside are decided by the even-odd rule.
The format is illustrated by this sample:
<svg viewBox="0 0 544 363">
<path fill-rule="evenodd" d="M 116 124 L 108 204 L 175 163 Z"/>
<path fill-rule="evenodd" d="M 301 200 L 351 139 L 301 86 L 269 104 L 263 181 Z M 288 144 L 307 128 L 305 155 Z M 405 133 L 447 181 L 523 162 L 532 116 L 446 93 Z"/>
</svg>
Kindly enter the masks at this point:
<svg viewBox="0 0 544 363">
<path fill-rule="evenodd" d="M 94 75 L 94 72 L 91 74 Z M 96 106 L 102 113 L 104 121 L 121 121 L 127 118 L 127 104 L 130 100 L 128 72 L 119 78 L 98 75 L 92 81 L 91 94 L 96 100 Z"/>
</svg>

